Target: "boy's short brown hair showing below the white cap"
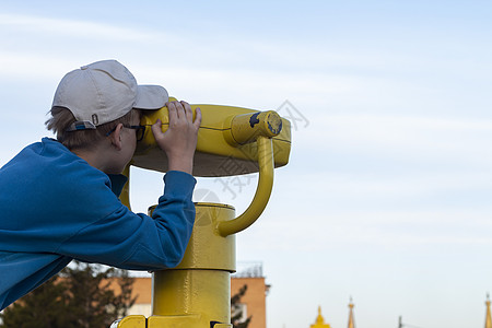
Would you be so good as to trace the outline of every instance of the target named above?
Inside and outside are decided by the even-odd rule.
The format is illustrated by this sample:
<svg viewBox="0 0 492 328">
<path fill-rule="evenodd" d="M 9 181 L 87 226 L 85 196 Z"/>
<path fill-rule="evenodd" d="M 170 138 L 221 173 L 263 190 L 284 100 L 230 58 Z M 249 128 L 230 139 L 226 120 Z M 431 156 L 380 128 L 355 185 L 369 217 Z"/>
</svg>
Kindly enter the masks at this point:
<svg viewBox="0 0 492 328">
<path fill-rule="evenodd" d="M 56 133 L 57 140 L 69 150 L 92 149 L 98 142 L 104 140 L 106 134 L 118 124 L 131 125 L 134 117 L 140 119 L 140 110 L 133 108 L 125 116 L 110 122 L 99 125 L 96 129 L 67 131 L 67 129 L 77 120 L 73 114 L 68 108 L 59 106 L 54 106 L 50 113 L 51 117 L 45 122 L 46 128 Z"/>
</svg>

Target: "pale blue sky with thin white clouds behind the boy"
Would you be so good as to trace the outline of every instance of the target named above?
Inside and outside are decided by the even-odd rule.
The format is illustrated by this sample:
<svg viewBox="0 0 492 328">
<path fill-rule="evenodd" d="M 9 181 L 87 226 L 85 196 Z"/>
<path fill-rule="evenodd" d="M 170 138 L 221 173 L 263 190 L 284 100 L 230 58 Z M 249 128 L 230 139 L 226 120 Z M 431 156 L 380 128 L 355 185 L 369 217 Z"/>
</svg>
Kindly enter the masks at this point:
<svg viewBox="0 0 492 328">
<path fill-rule="evenodd" d="M 236 236 L 260 261 L 269 328 L 484 325 L 492 291 L 490 1 L 0 1 L 0 165 L 51 137 L 65 73 L 117 59 L 191 104 L 292 122 L 261 218 Z M 285 102 L 288 106 L 285 106 Z M 246 209 L 257 175 L 198 178 Z M 131 171 L 147 211 L 162 174 Z M 46 186 L 49 188 L 49 186 Z"/>
</svg>

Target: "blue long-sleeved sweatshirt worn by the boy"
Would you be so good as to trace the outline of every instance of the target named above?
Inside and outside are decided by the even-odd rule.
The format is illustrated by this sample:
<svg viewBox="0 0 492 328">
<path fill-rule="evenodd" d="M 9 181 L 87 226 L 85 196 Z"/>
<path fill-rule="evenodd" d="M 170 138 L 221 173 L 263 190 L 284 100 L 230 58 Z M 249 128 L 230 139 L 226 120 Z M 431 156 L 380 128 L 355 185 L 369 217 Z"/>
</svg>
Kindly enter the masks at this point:
<svg viewBox="0 0 492 328">
<path fill-rule="evenodd" d="M 0 309 L 72 259 L 132 270 L 180 262 L 195 222 L 195 178 L 168 172 L 152 218 L 119 201 L 125 181 L 48 138 L 0 168 Z"/>
</svg>

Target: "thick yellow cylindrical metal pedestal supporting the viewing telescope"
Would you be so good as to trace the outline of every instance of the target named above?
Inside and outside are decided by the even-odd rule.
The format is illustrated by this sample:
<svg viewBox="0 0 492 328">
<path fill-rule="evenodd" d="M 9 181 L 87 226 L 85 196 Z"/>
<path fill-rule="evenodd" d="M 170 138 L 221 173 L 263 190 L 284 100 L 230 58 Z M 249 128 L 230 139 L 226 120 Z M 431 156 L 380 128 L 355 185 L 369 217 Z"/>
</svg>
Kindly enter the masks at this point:
<svg viewBox="0 0 492 328">
<path fill-rule="evenodd" d="M 218 226 L 233 220 L 234 208 L 197 203 L 194 233 L 178 267 L 155 271 L 152 316 L 128 316 L 125 328 L 230 328 L 231 272 L 235 271 L 235 235 Z"/>
</svg>

